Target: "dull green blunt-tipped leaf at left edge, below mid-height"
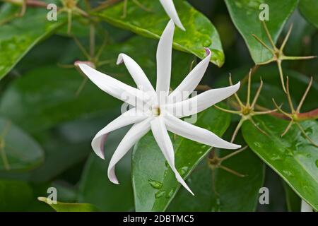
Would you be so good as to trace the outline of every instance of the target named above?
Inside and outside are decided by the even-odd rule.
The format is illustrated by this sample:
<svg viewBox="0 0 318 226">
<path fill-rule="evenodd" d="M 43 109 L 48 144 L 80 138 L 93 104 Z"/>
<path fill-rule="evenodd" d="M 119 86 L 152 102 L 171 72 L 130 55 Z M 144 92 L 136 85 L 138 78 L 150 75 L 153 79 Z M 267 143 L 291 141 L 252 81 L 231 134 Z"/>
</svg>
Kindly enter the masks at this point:
<svg viewBox="0 0 318 226">
<path fill-rule="evenodd" d="M 28 171 L 44 160 L 40 145 L 18 126 L 0 118 L 0 171 Z"/>
</svg>

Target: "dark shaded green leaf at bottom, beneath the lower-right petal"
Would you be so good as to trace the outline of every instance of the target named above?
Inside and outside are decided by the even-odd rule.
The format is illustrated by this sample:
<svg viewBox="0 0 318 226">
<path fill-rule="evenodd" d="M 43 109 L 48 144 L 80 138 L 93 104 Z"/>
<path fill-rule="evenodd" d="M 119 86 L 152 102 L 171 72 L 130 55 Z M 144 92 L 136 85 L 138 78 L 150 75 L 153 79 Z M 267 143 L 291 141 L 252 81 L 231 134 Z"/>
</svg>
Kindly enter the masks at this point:
<svg viewBox="0 0 318 226">
<path fill-rule="evenodd" d="M 239 142 L 241 143 L 241 142 Z M 232 151 L 220 150 L 219 157 Z M 187 183 L 195 196 L 181 189 L 168 207 L 168 211 L 255 211 L 259 201 L 259 189 L 264 183 L 264 163 L 249 148 L 222 163 L 237 177 L 224 169 L 214 169 L 208 161 L 202 161 L 189 176 Z"/>
</svg>

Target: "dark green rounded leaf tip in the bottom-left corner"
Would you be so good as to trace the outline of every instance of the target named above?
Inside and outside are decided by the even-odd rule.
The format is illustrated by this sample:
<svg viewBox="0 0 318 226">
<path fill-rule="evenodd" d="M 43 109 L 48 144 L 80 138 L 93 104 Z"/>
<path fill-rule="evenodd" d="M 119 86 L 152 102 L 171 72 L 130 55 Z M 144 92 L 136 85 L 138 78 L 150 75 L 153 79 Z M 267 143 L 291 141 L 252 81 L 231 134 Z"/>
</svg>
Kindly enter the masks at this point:
<svg viewBox="0 0 318 226">
<path fill-rule="evenodd" d="M 0 211 L 23 211 L 33 199 L 26 182 L 0 179 Z"/>
</svg>

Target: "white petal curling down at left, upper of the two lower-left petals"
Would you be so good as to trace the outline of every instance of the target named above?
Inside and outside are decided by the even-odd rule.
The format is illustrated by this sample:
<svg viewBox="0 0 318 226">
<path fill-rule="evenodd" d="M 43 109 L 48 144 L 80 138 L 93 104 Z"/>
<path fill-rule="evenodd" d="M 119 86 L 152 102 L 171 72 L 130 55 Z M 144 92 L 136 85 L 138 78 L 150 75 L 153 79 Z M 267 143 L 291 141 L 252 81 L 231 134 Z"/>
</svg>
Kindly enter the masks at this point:
<svg viewBox="0 0 318 226">
<path fill-rule="evenodd" d="M 142 121 L 143 119 L 146 119 L 146 115 L 142 114 L 142 112 L 138 112 L 136 108 L 133 108 L 127 112 L 124 112 L 124 114 L 117 117 L 117 119 L 111 121 L 110 124 L 100 130 L 93 138 L 92 148 L 96 155 L 98 155 L 102 159 L 105 159 L 104 142 L 107 138 L 107 133 L 110 133 L 111 131 L 122 128 L 124 126 Z"/>
</svg>

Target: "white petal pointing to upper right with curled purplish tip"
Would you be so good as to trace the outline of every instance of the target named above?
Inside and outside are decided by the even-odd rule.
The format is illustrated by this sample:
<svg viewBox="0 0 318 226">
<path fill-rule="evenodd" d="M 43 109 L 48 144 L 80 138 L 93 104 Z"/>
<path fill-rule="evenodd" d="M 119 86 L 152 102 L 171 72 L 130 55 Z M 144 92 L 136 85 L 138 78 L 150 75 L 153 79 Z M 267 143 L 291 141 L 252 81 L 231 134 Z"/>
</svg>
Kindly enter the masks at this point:
<svg viewBox="0 0 318 226">
<path fill-rule="evenodd" d="M 169 95 L 170 100 L 177 99 L 181 101 L 187 99 L 196 86 L 199 85 L 211 59 L 211 50 L 208 48 L 206 48 L 206 55 L 206 58 L 197 64 L 187 77 L 184 78 L 182 83 L 173 90 L 173 92 Z"/>
</svg>

